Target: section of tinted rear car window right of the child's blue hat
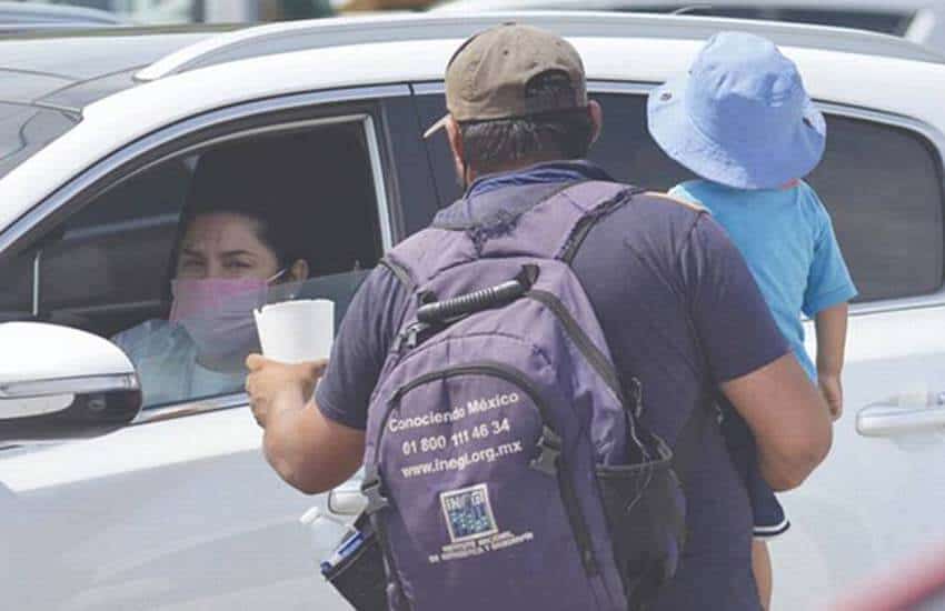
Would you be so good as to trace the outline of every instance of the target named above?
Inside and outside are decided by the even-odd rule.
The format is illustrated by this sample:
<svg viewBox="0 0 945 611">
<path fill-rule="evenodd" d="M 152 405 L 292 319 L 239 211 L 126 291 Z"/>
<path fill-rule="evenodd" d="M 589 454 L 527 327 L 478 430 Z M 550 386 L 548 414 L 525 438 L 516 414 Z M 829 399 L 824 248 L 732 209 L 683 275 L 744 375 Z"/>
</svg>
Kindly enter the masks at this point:
<svg viewBox="0 0 945 611">
<path fill-rule="evenodd" d="M 827 151 L 808 177 L 830 211 L 859 301 L 942 288 L 942 160 L 909 129 L 827 117 Z"/>
</svg>

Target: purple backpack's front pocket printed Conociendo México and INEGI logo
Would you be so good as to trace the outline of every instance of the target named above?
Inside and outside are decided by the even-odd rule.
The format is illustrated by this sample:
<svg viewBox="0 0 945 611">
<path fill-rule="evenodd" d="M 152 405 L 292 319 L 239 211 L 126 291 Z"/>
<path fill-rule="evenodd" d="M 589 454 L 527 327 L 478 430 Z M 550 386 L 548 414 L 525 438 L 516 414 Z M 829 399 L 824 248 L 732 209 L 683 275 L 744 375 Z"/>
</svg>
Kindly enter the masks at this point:
<svg viewBox="0 0 945 611">
<path fill-rule="evenodd" d="M 564 460 L 574 443 L 550 420 L 544 393 L 500 363 L 398 389 L 375 445 L 389 503 L 375 523 L 405 608 L 609 609 L 591 602 L 597 559 Z"/>
</svg>

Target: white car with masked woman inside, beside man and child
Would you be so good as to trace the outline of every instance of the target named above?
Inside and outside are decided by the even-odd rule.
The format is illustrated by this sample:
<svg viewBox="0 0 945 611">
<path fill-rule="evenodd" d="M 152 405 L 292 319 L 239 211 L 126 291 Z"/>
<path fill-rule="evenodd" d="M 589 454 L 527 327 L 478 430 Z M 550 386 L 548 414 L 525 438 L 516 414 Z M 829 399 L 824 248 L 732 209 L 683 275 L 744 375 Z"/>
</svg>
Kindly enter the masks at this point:
<svg viewBox="0 0 945 611">
<path fill-rule="evenodd" d="M 321 252 L 360 249 L 308 288 L 342 312 L 382 251 L 457 197 L 445 139 L 421 133 L 444 112 L 457 44 L 513 19 L 574 42 L 605 111 L 591 158 L 650 188 L 687 174 L 650 140 L 645 96 L 710 33 L 749 29 L 798 62 L 829 129 L 810 181 L 861 298 L 833 452 L 784 497 L 794 528 L 773 545 L 775 609 L 819 608 L 945 540 L 936 54 L 850 30 L 597 13 L 39 38 L 0 41 L 0 317 L 20 321 L 0 324 L 0 607 L 346 608 L 318 561 L 358 504 L 357 482 L 330 503 L 282 483 L 238 392 L 139 412 L 131 363 L 103 338 L 166 312 L 195 158 L 288 132 L 359 151 L 351 171 L 370 184 L 366 198 L 300 216 Z M 354 229 L 350 211 L 364 220 Z"/>
</svg>

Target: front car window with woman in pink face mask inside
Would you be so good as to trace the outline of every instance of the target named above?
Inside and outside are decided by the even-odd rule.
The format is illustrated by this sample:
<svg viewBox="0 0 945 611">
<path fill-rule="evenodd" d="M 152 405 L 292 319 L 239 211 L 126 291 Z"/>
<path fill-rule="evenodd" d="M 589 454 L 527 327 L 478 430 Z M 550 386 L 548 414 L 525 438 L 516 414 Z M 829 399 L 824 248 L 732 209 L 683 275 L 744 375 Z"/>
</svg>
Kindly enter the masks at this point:
<svg viewBox="0 0 945 611">
<path fill-rule="evenodd" d="M 255 308 L 330 299 L 340 321 L 382 254 L 369 121 L 315 123 L 229 138 L 110 188 L 0 267 L 13 288 L 0 317 L 112 339 L 145 409 L 240 392 Z"/>
</svg>

